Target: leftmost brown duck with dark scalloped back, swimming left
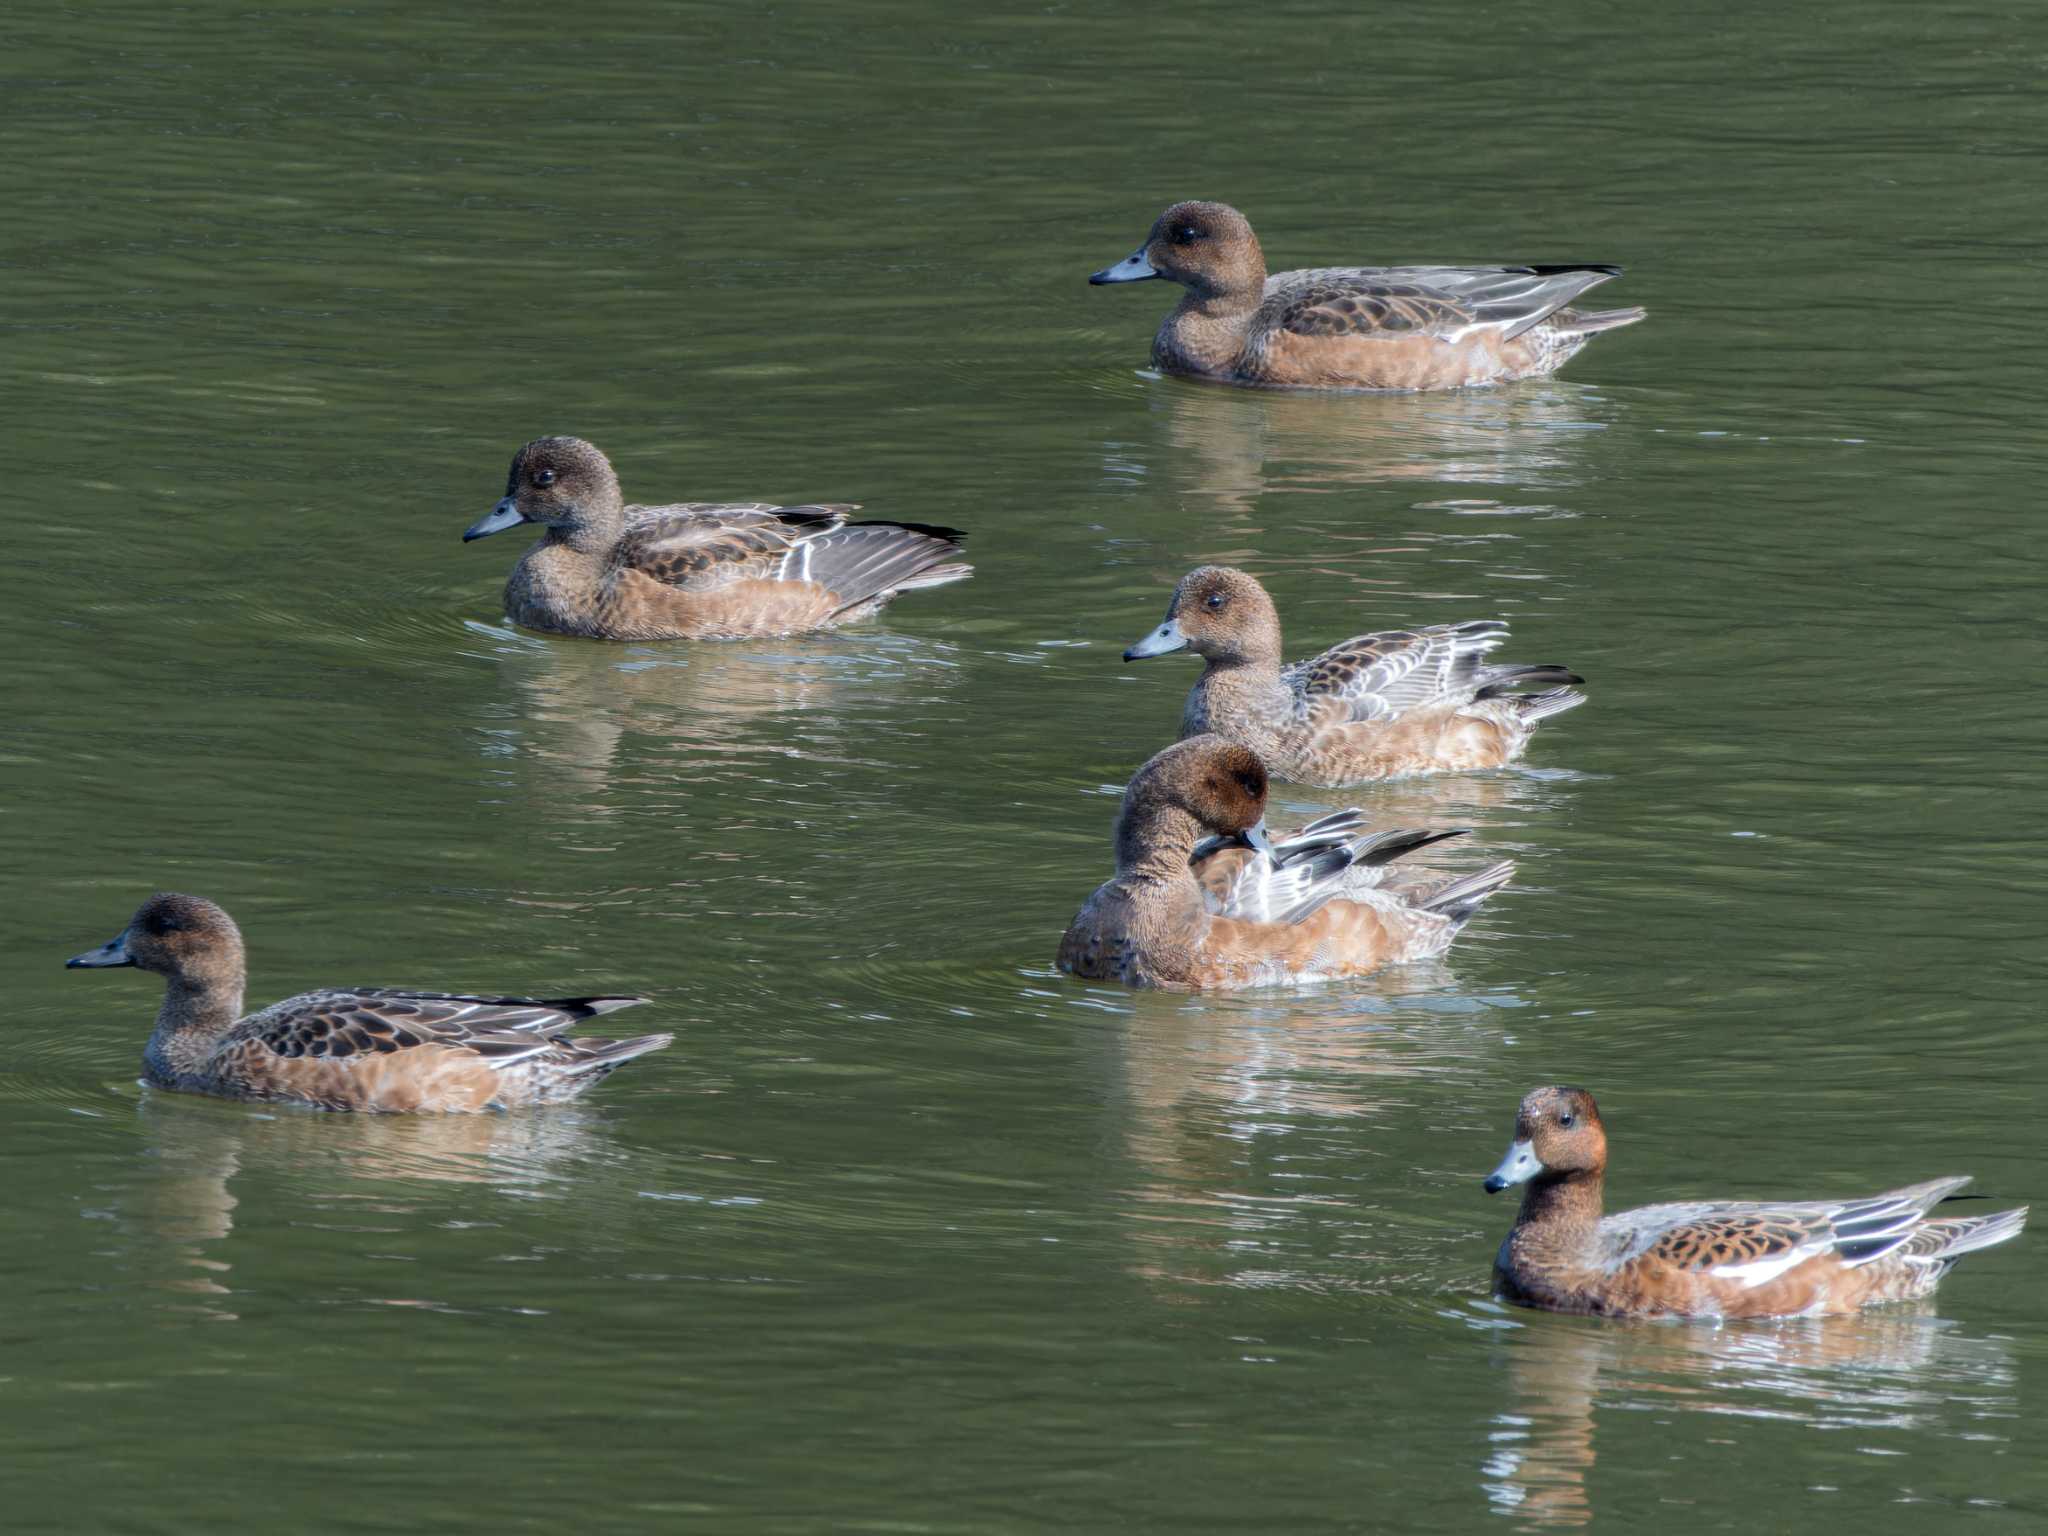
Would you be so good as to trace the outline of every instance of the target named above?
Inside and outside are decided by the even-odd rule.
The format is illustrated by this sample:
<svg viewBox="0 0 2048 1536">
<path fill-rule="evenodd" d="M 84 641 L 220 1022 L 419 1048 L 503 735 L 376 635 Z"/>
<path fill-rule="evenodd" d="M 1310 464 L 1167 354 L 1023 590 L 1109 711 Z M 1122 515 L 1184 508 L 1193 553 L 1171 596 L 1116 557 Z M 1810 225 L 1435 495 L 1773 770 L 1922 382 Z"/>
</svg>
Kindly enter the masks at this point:
<svg viewBox="0 0 2048 1536">
<path fill-rule="evenodd" d="M 518 1110 L 588 1092 L 674 1034 L 571 1036 L 645 997 L 475 997 L 395 987 L 324 987 L 242 1018 L 242 930 L 205 897 L 160 891 L 72 971 L 137 967 L 164 977 L 143 1049 L 158 1087 L 315 1110 Z"/>
</svg>

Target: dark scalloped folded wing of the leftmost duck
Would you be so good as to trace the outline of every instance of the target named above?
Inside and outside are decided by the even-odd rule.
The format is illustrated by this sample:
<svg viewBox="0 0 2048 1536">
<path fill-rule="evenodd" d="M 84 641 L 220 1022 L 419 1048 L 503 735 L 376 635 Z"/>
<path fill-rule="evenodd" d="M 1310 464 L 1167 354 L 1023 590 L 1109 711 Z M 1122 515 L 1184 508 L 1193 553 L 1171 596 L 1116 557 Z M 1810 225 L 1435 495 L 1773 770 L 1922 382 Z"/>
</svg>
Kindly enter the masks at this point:
<svg viewBox="0 0 2048 1536">
<path fill-rule="evenodd" d="M 287 997 L 236 1026 L 229 1040 L 279 1057 L 360 1057 L 455 1047 L 492 1067 L 565 1051 L 561 1036 L 645 997 L 471 997 L 453 991 L 328 987 Z"/>
</svg>

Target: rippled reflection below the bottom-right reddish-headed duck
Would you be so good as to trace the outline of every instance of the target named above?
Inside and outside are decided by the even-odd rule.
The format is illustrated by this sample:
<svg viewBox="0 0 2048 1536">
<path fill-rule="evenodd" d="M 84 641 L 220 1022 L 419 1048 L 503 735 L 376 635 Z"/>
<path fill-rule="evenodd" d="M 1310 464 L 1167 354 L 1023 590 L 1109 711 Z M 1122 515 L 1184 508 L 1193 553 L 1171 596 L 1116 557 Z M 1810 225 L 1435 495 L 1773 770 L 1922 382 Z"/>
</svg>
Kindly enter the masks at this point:
<svg viewBox="0 0 2048 1536">
<path fill-rule="evenodd" d="M 1966 1335 L 1931 1303 L 1729 1327 L 1540 1319 L 1503 1331 L 1497 1362 L 1507 1407 L 1493 1417 L 1479 1483 L 1518 1530 L 1585 1526 L 1599 1513 L 1591 1473 L 1602 1409 L 1712 1415 L 1714 1438 L 1726 1438 L 1729 1419 L 1767 1432 L 1804 1423 L 1970 1436 L 2019 1419 L 2007 1343 Z"/>
</svg>

